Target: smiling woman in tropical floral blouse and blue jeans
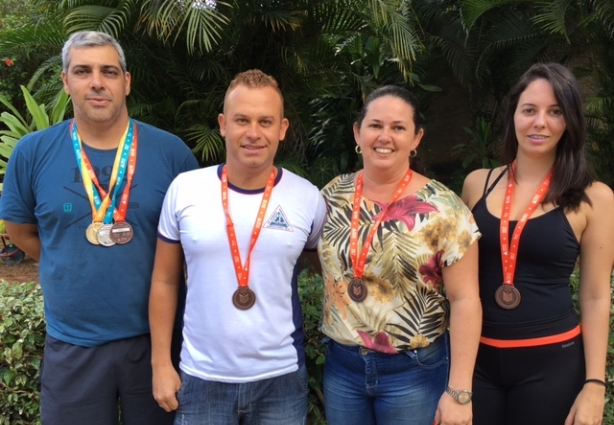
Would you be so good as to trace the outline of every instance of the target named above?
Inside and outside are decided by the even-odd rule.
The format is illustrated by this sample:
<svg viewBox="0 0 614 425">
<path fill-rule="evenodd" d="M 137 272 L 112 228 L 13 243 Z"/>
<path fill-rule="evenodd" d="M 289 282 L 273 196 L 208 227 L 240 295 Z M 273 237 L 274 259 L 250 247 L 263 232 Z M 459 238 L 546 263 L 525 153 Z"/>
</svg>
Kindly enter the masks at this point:
<svg viewBox="0 0 614 425">
<path fill-rule="evenodd" d="M 471 423 L 480 234 L 452 191 L 410 169 L 423 134 L 416 98 L 381 87 L 354 125 L 364 168 L 322 190 L 331 425 Z"/>
</svg>

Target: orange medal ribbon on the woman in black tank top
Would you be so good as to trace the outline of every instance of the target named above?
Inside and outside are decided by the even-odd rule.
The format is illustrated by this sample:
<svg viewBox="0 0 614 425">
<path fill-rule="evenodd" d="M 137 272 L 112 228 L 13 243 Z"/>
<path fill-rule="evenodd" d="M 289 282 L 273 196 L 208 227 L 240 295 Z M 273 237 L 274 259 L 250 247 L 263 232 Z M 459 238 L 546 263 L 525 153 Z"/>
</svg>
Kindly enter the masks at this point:
<svg viewBox="0 0 614 425">
<path fill-rule="evenodd" d="M 525 224 L 531 217 L 538 205 L 544 200 L 550 180 L 552 178 L 551 168 L 541 185 L 535 192 L 533 199 L 527 205 L 524 213 L 516 223 L 512 241 L 509 241 L 509 219 L 512 207 L 512 197 L 514 195 L 514 174 L 516 171 L 516 161 L 511 165 L 511 175 L 508 176 L 507 189 L 505 191 L 505 200 L 503 202 L 503 211 L 501 213 L 501 224 L 499 226 L 499 241 L 501 243 L 501 262 L 503 264 L 503 284 L 514 286 L 514 275 L 516 274 L 516 260 L 518 259 L 518 245 L 520 242 L 520 234 L 522 233 Z"/>
</svg>

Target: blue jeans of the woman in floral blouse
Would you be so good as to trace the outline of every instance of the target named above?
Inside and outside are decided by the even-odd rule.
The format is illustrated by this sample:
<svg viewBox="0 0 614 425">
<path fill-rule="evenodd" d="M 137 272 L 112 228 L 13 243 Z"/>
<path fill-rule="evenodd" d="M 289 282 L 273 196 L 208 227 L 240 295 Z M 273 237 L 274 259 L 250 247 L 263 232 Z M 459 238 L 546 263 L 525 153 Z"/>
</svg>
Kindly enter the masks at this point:
<svg viewBox="0 0 614 425">
<path fill-rule="evenodd" d="M 383 354 L 332 340 L 324 364 L 330 425 L 432 425 L 449 372 L 449 341 Z"/>
</svg>

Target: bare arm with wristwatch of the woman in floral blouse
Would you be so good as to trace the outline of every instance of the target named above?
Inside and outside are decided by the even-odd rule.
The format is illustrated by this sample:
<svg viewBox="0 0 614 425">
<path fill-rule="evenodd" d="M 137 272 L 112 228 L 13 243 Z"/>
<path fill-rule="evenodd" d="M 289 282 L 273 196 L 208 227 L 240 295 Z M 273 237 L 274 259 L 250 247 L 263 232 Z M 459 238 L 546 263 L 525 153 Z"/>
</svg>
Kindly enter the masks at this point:
<svg viewBox="0 0 614 425">
<path fill-rule="evenodd" d="M 482 303 L 478 289 L 478 246 L 471 244 L 463 258 L 442 269 L 450 300 L 450 379 L 455 390 L 472 388 L 473 368 L 482 331 Z M 437 407 L 436 422 L 471 424 L 471 403 L 461 405 L 444 393 Z"/>
</svg>

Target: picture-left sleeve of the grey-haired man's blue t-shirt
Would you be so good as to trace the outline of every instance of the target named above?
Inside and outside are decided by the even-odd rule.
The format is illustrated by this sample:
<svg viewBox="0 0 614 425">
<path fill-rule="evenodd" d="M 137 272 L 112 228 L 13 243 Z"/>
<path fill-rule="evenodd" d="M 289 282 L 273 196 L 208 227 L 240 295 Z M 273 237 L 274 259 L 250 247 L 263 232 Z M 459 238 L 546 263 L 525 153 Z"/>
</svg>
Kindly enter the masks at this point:
<svg viewBox="0 0 614 425">
<path fill-rule="evenodd" d="M 2 196 L 0 218 L 19 224 L 36 224 L 36 197 L 32 187 L 33 160 L 20 141 L 8 161 Z"/>
</svg>

